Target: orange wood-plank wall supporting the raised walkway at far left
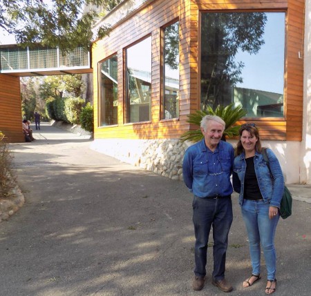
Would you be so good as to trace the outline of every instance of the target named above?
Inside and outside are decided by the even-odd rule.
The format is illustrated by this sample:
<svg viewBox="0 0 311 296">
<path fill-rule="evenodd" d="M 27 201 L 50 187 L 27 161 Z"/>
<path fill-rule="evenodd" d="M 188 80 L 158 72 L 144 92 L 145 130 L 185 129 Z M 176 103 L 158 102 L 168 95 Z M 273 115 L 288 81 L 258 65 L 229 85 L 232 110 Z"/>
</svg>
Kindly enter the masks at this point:
<svg viewBox="0 0 311 296">
<path fill-rule="evenodd" d="M 19 77 L 0 74 L 0 130 L 11 143 L 24 141 Z"/>
</svg>

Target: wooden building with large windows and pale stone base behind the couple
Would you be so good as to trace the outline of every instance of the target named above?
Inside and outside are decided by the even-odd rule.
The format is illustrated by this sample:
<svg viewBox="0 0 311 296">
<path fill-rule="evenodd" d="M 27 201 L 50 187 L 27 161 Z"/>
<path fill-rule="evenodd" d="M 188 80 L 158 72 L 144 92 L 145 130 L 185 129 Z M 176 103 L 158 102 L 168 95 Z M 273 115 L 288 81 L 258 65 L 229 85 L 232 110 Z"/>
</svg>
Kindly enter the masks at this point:
<svg viewBox="0 0 311 296">
<path fill-rule="evenodd" d="M 142 166 L 151 143 L 196 128 L 187 115 L 232 103 L 247 110 L 239 124 L 254 122 L 276 151 L 285 180 L 304 182 L 301 155 L 292 157 L 303 139 L 304 8 L 303 0 L 123 1 L 97 24 L 111 32 L 92 50 L 93 147 Z M 147 168 L 164 175 L 163 166 Z"/>
</svg>

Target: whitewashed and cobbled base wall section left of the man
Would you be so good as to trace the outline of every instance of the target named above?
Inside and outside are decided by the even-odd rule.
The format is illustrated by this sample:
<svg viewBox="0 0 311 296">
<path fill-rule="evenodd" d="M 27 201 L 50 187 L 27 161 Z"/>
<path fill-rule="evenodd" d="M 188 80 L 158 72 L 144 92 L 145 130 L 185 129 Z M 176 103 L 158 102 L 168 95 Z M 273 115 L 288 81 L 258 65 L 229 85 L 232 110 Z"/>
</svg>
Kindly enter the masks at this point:
<svg viewBox="0 0 311 296">
<path fill-rule="evenodd" d="M 91 148 L 144 170 L 182 180 L 182 159 L 189 144 L 179 139 L 95 139 Z"/>
</svg>

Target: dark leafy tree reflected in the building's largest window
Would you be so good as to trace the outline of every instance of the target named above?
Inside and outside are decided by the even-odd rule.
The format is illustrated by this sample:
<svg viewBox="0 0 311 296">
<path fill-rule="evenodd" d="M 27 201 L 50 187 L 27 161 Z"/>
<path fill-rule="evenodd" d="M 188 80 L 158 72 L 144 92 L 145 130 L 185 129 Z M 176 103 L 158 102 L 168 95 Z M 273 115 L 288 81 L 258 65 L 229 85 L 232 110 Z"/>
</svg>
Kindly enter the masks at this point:
<svg viewBox="0 0 311 296">
<path fill-rule="evenodd" d="M 232 86 L 242 83 L 243 61 L 235 61 L 238 50 L 258 53 L 265 43 L 264 12 L 202 14 L 201 109 L 232 103 Z M 256 69 L 254 69 L 256 70 Z"/>
</svg>

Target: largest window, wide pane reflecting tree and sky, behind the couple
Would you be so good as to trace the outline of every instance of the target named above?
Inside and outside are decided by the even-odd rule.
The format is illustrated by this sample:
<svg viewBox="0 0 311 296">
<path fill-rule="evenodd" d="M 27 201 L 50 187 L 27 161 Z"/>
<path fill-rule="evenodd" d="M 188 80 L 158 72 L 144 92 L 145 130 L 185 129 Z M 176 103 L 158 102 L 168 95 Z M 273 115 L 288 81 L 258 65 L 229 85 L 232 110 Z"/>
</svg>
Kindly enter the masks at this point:
<svg viewBox="0 0 311 296">
<path fill-rule="evenodd" d="M 285 12 L 203 13 L 201 108 L 234 103 L 283 117 Z"/>
</svg>

